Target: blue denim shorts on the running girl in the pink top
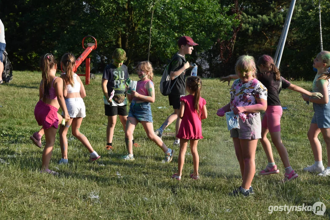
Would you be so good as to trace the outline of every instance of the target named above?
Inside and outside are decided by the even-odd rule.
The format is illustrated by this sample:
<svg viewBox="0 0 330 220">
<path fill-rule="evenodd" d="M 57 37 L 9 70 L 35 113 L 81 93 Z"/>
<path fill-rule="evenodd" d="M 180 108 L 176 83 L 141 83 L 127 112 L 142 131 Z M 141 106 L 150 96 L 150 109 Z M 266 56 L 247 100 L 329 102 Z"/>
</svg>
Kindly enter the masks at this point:
<svg viewBox="0 0 330 220">
<path fill-rule="evenodd" d="M 149 102 L 134 103 L 129 107 L 128 117 L 136 118 L 138 121 L 152 122 L 151 106 Z"/>
</svg>

